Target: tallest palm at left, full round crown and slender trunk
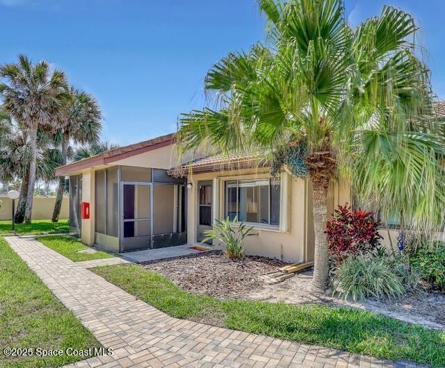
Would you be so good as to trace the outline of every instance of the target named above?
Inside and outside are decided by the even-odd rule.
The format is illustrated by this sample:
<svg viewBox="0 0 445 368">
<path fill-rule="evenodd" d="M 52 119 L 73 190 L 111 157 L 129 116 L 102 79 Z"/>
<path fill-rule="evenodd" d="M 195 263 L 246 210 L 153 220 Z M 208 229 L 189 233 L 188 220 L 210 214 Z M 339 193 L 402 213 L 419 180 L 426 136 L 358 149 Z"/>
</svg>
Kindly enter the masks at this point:
<svg viewBox="0 0 445 368">
<path fill-rule="evenodd" d="M 58 128 L 58 122 L 66 115 L 64 106 L 70 94 L 63 72 L 55 69 L 51 73 L 46 61 L 33 65 L 24 55 L 19 56 L 17 63 L 0 67 L 0 76 L 6 81 L 0 83 L 3 109 L 29 131 L 31 161 L 25 208 L 25 222 L 29 224 L 37 168 L 38 130 Z"/>
</svg>

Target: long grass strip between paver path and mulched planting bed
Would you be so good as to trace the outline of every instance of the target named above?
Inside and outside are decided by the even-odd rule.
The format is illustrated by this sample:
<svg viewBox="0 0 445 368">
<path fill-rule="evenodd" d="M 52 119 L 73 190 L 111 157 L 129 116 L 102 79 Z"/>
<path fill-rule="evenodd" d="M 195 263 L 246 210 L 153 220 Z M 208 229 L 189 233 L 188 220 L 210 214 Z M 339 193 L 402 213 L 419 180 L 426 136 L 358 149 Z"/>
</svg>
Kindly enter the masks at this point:
<svg viewBox="0 0 445 368">
<path fill-rule="evenodd" d="M 445 366 L 445 333 L 353 308 L 222 301 L 191 294 L 138 265 L 93 271 L 172 317 L 387 360 Z M 209 322 L 210 321 L 210 322 Z"/>
</svg>

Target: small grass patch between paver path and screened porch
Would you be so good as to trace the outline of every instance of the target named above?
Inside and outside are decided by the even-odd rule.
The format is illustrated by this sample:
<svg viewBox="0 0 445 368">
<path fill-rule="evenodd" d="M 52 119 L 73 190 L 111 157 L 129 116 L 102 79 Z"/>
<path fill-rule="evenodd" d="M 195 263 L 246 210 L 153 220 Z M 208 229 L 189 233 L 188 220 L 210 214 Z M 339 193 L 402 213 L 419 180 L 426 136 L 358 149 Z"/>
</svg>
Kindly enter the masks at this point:
<svg viewBox="0 0 445 368">
<path fill-rule="evenodd" d="M 106 253 L 104 251 L 96 251 L 95 253 L 79 253 L 86 249 L 91 249 L 70 236 L 44 236 L 39 237 L 38 241 L 60 253 L 66 258 L 70 258 L 74 262 L 81 262 L 83 260 L 101 260 L 103 258 L 113 258 L 113 253 Z"/>
</svg>

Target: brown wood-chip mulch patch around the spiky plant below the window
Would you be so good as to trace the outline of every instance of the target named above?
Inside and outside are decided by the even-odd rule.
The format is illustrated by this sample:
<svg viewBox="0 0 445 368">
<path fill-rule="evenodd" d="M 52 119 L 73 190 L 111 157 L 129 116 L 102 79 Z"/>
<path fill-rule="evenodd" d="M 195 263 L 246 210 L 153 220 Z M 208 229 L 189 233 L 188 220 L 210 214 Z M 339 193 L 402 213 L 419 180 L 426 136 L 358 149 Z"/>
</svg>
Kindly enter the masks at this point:
<svg viewBox="0 0 445 368">
<path fill-rule="evenodd" d="M 141 264 L 185 290 L 220 299 L 243 298 L 246 290 L 252 291 L 262 285 L 259 276 L 284 265 L 286 263 L 280 260 L 258 256 L 230 260 L 222 251 L 207 251 Z"/>
</svg>

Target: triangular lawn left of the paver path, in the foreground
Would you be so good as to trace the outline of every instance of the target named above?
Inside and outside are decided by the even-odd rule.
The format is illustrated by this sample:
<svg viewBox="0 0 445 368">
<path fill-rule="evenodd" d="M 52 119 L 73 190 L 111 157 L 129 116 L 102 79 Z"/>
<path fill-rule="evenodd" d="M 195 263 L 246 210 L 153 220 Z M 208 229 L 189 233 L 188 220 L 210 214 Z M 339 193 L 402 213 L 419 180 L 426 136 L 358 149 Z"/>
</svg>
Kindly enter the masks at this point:
<svg viewBox="0 0 445 368">
<path fill-rule="evenodd" d="M 88 357 L 3 356 L 4 348 L 88 349 L 101 345 L 0 238 L 0 367 L 60 367 Z"/>
</svg>

